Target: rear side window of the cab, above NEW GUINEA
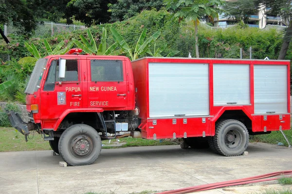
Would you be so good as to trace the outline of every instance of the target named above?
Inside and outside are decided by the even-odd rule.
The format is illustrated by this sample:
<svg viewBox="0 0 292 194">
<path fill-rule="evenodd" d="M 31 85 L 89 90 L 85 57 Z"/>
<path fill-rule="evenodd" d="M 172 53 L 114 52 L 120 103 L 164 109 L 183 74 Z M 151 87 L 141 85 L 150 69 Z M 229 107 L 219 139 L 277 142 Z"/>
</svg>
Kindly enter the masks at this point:
<svg viewBox="0 0 292 194">
<path fill-rule="evenodd" d="M 91 60 L 91 81 L 123 81 L 121 60 Z"/>
</svg>

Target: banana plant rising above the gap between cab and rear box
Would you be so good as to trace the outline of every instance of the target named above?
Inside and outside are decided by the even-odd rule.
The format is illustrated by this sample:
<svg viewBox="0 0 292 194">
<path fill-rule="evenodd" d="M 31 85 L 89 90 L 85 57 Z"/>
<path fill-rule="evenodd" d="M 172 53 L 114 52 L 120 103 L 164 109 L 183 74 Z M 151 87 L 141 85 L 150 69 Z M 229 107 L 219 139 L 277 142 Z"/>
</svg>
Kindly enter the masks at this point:
<svg viewBox="0 0 292 194">
<path fill-rule="evenodd" d="M 131 60 L 135 60 L 139 58 L 141 55 L 145 54 L 147 50 L 149 50 L 149 47 L 154 43 L 156 39 L 161 34 L 161 31 L 155 32 L 151 37 L 145 40 L 147 29 L 144 28 L 138 41 L 135 46 L 134 52 L 132 52 L 132 49 L 128 46 L 128 43 L 126 40 L 121 36 L 120 33 L 118 33 L 113 27 L 110 27 L 110 31 L 112 33 L 112 38 L 118 42 L 119 46 L 122 48 L 122 50 L 128 54 L 129 58 Z"/>
</svg>

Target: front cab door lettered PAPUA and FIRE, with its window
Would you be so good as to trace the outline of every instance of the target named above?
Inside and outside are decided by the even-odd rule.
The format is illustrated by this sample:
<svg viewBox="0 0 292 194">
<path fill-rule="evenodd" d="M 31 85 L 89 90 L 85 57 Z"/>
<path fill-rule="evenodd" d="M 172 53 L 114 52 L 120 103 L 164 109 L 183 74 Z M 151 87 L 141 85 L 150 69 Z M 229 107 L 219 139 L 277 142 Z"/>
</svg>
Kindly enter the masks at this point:
<svg viewBox="0 0 292 194">
<path fill-rule="evenodd" d="M 40 95 L 41 119 L 51 122 L 67 109 L 82 108 L 80 60 L 66 58 L 65 78 L 58 78 L 59 58 L 50 60 L 49 71 Z"/>
</svg>

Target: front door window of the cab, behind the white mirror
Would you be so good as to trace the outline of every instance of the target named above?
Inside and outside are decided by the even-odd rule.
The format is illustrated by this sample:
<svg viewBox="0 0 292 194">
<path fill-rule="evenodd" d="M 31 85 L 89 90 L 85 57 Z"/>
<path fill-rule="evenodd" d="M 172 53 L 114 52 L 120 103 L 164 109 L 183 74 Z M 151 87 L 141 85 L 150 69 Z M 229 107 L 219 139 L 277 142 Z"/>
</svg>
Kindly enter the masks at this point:
<svg viewBox="0 0 292 194">
<path fill-rule="evenodd" d="M 44 91 L 54 91 L 55 82 L 62 81 L 66 82 L 78 82 L 78 60 L 67 59 L 66 60 L 66 72 L 65 78 L 58 78 L 59 76 L 59 60 L 53 60 L 50 65 L 49 73 L 44 85 Z"/>
</svg>

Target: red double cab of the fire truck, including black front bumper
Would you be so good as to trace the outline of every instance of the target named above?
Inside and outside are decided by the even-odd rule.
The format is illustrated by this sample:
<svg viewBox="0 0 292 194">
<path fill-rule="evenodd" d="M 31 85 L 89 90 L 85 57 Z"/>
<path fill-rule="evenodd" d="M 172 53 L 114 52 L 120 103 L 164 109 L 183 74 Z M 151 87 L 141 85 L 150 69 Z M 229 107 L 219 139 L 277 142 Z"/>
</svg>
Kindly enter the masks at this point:
<svg viewBox="0 0 292 194">
<path fill-rule="evenodd" d="M 128 124 L 126 136 L 130 136 L 130 132 L 138 126 L 132 114 L 135 110 L 135 89 L 129 59 L 123 56 L 79 55 L 80 52 L 81 49 L 73 49 L 71 54 L 48 56 L 37 61 L 25 90 L 29 123 L 24 123 L 13 112 L 8 113 L 20 133 L 27 137 L 29 131 L 37 130 L 45 140 L 49 140 L 57 154 L 61 154 L 59 150 L 62 149 L 58 147 L 60 137 L 72 126 L 77 126 L 77 131 L 80 126 L 85 127 L 99 139 L 119 136 L 116 123 L 131 123 L 129 119 L 133 120 L 132 124 Z M 78 145 L 87 141 L 91 143 L 86 146 L 95 147 L 90 136 L 77 139 Z M 84 157 L 84 153 L 78 155 L 84 152 L 80 149 L 75 148 L 74 155 Z M 67 162 L 76 165 L 74 161 Z M 83 161 L 82 164 L 89 163 Z"/>
</svg>

